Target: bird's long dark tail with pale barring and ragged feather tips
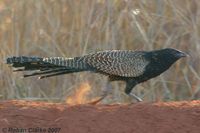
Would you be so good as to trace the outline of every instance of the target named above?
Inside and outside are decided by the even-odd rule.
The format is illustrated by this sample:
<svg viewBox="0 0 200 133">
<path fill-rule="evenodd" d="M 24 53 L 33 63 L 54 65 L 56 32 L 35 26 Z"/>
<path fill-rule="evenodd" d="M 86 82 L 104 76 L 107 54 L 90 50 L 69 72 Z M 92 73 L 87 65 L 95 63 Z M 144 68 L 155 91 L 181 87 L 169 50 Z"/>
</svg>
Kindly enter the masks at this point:
<svg viewBox="0 0 200 133">
<path fill-rule="evenodd" d="M 83 57 L 8 57 L 6 63 L 14 67 L 14 71 L 33 71 L 25 74 L 24 77 L 39 75 L 39 78 L 46 78 L 61 74 L 87 71 L 89 67 Z"/>
</svg>

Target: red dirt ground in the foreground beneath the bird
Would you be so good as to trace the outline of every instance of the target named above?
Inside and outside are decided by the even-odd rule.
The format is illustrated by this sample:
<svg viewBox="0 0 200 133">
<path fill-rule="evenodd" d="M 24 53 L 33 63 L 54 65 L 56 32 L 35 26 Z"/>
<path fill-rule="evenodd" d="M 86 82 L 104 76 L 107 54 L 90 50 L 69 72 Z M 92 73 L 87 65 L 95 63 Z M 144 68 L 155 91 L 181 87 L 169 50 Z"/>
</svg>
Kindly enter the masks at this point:
<svg viewBox="0 0 200 133">
<path fill-rule="evenodd" d="M 200 101 L 76 105 L 0 102 L 2 133 L 200 133 Z"/>
</svg>

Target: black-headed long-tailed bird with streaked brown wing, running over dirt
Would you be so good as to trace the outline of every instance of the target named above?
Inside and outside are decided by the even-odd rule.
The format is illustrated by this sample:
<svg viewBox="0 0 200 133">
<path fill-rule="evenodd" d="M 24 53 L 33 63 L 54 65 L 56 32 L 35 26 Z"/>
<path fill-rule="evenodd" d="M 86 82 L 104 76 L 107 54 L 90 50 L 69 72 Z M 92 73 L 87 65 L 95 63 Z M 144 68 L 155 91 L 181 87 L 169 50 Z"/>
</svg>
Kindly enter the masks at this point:
<svg viewBox="0 0 200 133">
<path fill-rule="evenodd" d="M 137 84 L 159 76 L 177 60 L 187 56 L 185 52 L 174 48 L 151 51 L 106 50 L 73 58 L 11 56 L 6 58 L 6 64 L 12 66 L 13 71 L 32 71 L 23 76 L 39 76 L 39 79 L 83 71 L 103 74 L 108 77 L 108 82 L 124 81 L 125 94 L 141 102 L 142 99 L 132 93 L 132 89 Z M 107 92 L 97 101 L 106 96 Z"/>
</svg>

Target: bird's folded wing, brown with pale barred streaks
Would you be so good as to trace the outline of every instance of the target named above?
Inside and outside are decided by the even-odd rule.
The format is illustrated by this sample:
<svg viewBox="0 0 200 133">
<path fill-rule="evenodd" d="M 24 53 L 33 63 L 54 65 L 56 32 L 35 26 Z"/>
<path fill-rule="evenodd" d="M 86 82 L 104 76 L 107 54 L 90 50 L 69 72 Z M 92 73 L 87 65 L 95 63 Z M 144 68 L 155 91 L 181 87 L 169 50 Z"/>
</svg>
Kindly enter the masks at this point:
<svg viewBox="0 0 200 133">
<path fill-rule="evenodd" d="M 91 54 L 86 62 L 97 71 L 122 77 L 137 77 L 149 63 L 142 51 L 103 51 Z"/>
</svg>

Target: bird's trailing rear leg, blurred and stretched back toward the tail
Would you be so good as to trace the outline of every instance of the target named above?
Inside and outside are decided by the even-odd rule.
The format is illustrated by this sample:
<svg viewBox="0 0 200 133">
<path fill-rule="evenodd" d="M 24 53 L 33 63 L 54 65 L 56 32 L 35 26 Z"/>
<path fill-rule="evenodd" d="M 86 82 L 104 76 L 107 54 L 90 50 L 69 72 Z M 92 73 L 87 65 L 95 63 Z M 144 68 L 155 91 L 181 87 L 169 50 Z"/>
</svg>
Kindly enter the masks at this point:
<svg viewBox="0 0 200 133">
<path fill-rule="evenodd" d="M 110 82 L 107 82 L 106 86 L 103 88 L 103 93 L 102 93 L 101 97 L 99 97 L 98 99 L 93 100 L 89 104 L 94 104 L 94 105 L 98 104 L 105 97 L 107 97 L 111 92 L 112 92 L 112 85 L 110 84 Z"/>
</svg>

